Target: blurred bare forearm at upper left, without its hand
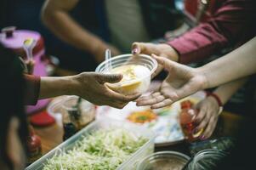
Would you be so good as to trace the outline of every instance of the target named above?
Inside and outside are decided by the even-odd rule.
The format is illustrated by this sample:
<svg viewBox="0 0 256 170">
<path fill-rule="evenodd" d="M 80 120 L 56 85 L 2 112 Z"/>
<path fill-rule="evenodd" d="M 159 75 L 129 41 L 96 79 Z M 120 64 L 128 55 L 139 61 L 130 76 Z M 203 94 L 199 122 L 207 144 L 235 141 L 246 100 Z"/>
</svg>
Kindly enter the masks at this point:
<svg viewBox="0 0 256 170">
<path fill-rule="evenodd" d="M 61 40 L 74 47 L 94 53 L 97 50 L 95 44 L 103 42 L 101 42 L 99 37 L 83 29 L 82 26 L 79 26 L 71 18 L 68 11 L 73 7 L 69 7 L 68 9 L 59 7 L 60 5 L 55 4 L 56 2 L 58 1 L 52 0 L 44 5 L 42 10 L 43 23 Z"/>
</svg>

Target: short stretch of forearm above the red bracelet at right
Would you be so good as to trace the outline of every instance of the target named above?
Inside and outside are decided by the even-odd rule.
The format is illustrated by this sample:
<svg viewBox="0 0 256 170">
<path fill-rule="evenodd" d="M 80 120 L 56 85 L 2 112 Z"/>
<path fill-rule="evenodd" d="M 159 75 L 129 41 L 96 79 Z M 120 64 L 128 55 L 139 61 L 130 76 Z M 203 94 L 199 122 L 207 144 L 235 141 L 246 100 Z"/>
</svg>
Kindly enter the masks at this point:
<svg viewBox="0 0 256 170">
<path fill-rule="evenodd" d="M 238 79 L 233 82 L 225 83 L 219 88 L 216 88 L 214 90 L 214 94 L 217 94 L 219 96 L 219 99 L 223 105 L 231 98 L 233 94 L 236 93 L 236 91 L 241 88 L 245 83 L 247 82 L 247 78 Z"/>
</svg>

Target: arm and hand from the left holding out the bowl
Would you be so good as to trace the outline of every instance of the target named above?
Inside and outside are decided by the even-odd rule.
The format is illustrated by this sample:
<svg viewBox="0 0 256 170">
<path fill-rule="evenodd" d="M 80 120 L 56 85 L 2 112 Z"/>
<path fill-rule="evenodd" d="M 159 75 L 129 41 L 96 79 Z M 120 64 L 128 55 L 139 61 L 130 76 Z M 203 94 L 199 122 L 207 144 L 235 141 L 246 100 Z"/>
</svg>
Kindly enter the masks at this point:
<svg viewBox="0 0 256 170">
<path fill-rule="evenodd" d="M 35 77 L 31 76 L 30 79 L 26 78 L 26 82 L 32 84 L 30 87 L 34 88 L 26 88 L 26 104 L 35 104 L 37 99 L 77 95 L 95 105 L 122 108 L 129 101 L 137 99 L 139 94 L 127 96 L 117 94 L 105 86 L 105 82 L 114 83 L 121 79 L 122 75 L 102 75 L 94 72 L 83 72 L 70 77 L 41 77 L 41 81 L 40 79 L 35 81 Z"/>
</svg>

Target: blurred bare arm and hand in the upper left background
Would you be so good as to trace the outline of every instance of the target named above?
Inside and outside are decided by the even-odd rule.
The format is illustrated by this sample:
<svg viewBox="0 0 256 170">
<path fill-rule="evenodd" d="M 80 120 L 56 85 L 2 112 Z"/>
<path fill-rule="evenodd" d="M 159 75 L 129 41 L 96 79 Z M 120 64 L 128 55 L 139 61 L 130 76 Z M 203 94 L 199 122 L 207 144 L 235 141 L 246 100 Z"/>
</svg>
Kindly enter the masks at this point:
<svg viewBox="0 0 256 170">
<path fill-rule="evenodd" d="M 111 48 L 113 54 L 118 54 L 116 48 L 103 42 L 100 37 L 79 26 L 68 14 L 75 8 L 79 0 L 46 0 L 42 9 L 42 20 L 48 28 L 61 40 L 74 47 L 94 54 L 95 59 L 101 62 L 104 51 Z"/>
</svg>

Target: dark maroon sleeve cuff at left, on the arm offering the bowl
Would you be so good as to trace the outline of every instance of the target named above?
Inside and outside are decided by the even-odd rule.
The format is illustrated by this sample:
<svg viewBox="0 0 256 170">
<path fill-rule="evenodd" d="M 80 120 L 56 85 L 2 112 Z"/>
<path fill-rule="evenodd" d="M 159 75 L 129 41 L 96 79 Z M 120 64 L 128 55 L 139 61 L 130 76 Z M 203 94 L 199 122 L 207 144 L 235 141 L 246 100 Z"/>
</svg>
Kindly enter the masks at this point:
<svg viewBox="0 0 256 170">
<path fill-rule="evenodd" d="M 24 75 L 26 81 L 25 104 L 36 105 L 40 90 L 40 77 Z"/>
</svg>

